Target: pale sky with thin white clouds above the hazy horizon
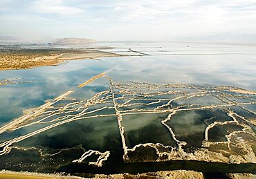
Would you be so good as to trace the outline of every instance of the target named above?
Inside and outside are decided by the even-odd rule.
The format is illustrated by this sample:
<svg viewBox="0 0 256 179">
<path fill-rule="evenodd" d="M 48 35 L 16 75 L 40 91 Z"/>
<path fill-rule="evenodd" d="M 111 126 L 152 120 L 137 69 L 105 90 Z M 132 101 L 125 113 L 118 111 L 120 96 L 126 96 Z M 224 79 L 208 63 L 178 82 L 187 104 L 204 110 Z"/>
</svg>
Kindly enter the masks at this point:
<svg viewBox="0 0 256 179">
<path fill-rule="evenodd" d="M 256 1 L 0 0 L 0 36 L 256 42 Z"/>
</svg>

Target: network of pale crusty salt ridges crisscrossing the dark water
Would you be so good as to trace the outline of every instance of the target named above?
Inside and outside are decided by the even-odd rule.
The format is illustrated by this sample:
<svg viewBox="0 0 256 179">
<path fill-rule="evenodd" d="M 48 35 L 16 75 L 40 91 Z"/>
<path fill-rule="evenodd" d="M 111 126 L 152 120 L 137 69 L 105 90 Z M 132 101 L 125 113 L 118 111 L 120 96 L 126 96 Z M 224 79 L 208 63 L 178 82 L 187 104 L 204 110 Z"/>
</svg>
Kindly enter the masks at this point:
<svg viewBox="0 0 256 179">
<path fill-rule="evenodd" d="M 94 78 L 90 79 L 89 81 L 85 82 L 79 87 L 82 87 L 83 85 L 88 84 L 88 82 L 91 82 L 97 79 L 98 77 L 104 77 L 104 75 L 105 74 L 100 74 L 98 76 L 95 76 Z M 1 127 L 0 134 L 5 132 L 6 130 L 13 131 L 13 130 L 33 126 L 35 124 L 44 124 L 44 125 L 48 124 L 48 126 L 44 126 L 42 129 L 37 129 L 36 131 L 27 133 L 26 135 L 21 135 L 17 138 L 13 138 L 11 140 L 6 140 L 5 142 L 2 142 L 0 144 L 0 147 L 3 147 L 3 149 L 2 151 L 0 151 L 0 155 L 9 153 L 11 149 L 20 149 L 20 150 L 35 149 L 39 151 L 42 157 L 51 156 L 51 155 L 55 156 L 58 153 L 61 153 L 62 151 L 68 150 L 68 149 L 59 150 L 55 153 L 43 153 L 42 149 L 29 148 L 29 147 L 22 148 L 22 147 L 13 146 L 12 144 L 20 142 L 22 140 L 26 140 L 34 135 L 37 135 L 38 133 L 42 133 L 44 131 L 47 131 L 48 129 L 53 129 L 57 126 L 66 124 L 68 122 L 73 122 L 76 120 L 94 119 L 97 117 L 116 116 L 120 138 L 122 142 L 122 149 L 124 151 L 123 160 L 125 162 L 131 161 L 132 159 L 129 158 L 129 154 L 136 152 L 136 150 L 140 147 L 152 147 L 152 149 L 156 151 L 156 155 L 158 156 L 158 159 L 156 161 L 165 161 L 165 160 L 209 161 L 211 160 L 215 162 L 229 162 L 231 161 L 231 159 L 233 160 L 233 158 L 236 158 L 236 160 L 234 161 L 237 163 L 246 162 L 246 161 L 247 162 L 256 161 L 254 160 L 254 156 L 253 156 L 250 144 L 243 145 L 240 143 L 236 143 L 237 145 L 239 145 L 239 147 L 246 146 L 248 149 L 244 149 L 244 151 L 247 151 L 248 154 L 245 154 L 244 156 L 233 155 L 233 156 L 230 156 L 231 159 L 226 158 L 221 154 L 221 152 L 229 153 L 229 151 L 225 151 L 221 149 L 222 151 L 219 150 L 219 153 L 217 153 L 217 152 L 208 150 L 208 147 L 214 144 L 225 144 L 227 145 L 228 149 L 231 150 L 231 144 L 234 142 L 235 136 L 239 135 L 240 133 L 246 133 L 248 135 L 253 136 L 253 138 L 256 138 L 255 133 L 253 133 L 250 126 L 246 124 L 246 122 L 250 124 L 252 123 L 249 120 L 246 120 L 245 117 L 238 115 L 234 111 L 227 109 L 232 106 L 239 106 L 242 109 L 248 111 L 249 113 L 255 115 L 254 111 L 251 111 L 244 107 L 247 104 L 251 104 L 251 105 L 256 104 L 256 100 L 254 100 L 254 98 L 251 97 L 250 94 L 232 95 L 230 94 L 230 88 L 232 87 L 229 87 L 229 86 L 221 86 L 221 87 L 196 86 L 196 85 L 193 86 L 193 85 L 185 85 L 185 84 L 156 85 L 156 84 L 147 84 L 143 82 L 127 82 L 127 84 L 122 84 L 122 83 L 114 84 L 111 77 L 107 77 L 107 76 L 105 77 L 109 80 L 109 90 L 96 93 L 89 100 L 71 100 L 70 103 L 65 104 L 64 106 L 54 106 L 55 102 L 64 100 L 68 94 L 72 93 L 72 91 L 69 91 L 67 93 L 64 93 L 64 95 L 61 95 L 60 97 L 56 97 L 53 102 L 49 102 L 49 103 L 47 102 L 43 106 L 40 106 L 35 111 L 33 111 L 33 113 L 28 113 L 22 117 L 19 117 L 19 120 L 15 120 L 13 122 L 10 122 L 9 124 L 6 124 L 6 126 Z M 161 91 L 161 88 L 165 88 L 165 90 Z M 191 93 L 189 93 L 190 91 L 188 91 L 188 89 L 192 90 Z M 229 93 L 226 93 L 226 92 L 229 92 Z M 165 95 L 165 97 L 161 98 L 161 95 Z M 168 95 L 172 95 L 172 96 L 168 98 Z M 216 97 L 216 99 L 214 100 L 216 102 L 222 102 L 223 104 L 208 104 L 208 103 L 179 104 L 179 101 L 181 100 L 184 101 L 184 100 L 193 99 L 193 98 L 196 99 L 197 97 Z M 230 98 L 239 98 L 240 100 L 246 99 L 246 101 L 238 102 L 236 100 L 230 100 Z M 119 102 L 118 100 L 121 100 L 121 101 L 123 100 L 125 102 L 118 103 Z M 140 100 L 140 102 L 136 102 L 136 100 Z M 162 102 L 165 102 L 165 104 L 162 104 Z M 175 104 L 176 107 L 173 106 L 173 102 L 176 102 Z M 97 104 L 101 104 L 100 107 L 89 111 L 90 106 L 94 106 Z M 104 104 L 104 106 L 102 106 L 102 104 Z M 143 108 L 143 106 L 146 106 L 146 108 Z M 122 109 L 122 107 L 124 107 L 124 109 Z M 114 109 L 115 112 L 98 114 L 98 112 L 102 112 L 108 109 L 111 109 L 111 110 Z M 185 152 L 183 150 L 183 147 L 186 145 L 186 142 L 179 140 L 179 137 L 176 135 L 176 133 L 174 133 L 173 129 L 170 126 L 168 126 L 167 122 L 171 121 L 172 117 L 176 115 L 176 113 L 179 113 L 182 111 L 198 111 L 198 110 L 205 110 L 205 109 L 206 110 L 208 109 L 227 110 L 228 111 L 227 115 L 231 117 L 232 120 L 225 121 L 225 122 L 215 121 L 212 124 L 208 124 L 207 121 L 214 120 L 214 117 L 211 117 L 208 120 L 206 119 L 205 123 L 208 124 L 208 126 L 205 128 L 205 133 L 204 133 L 205 136 L 204 136 L 202 148 L 197 149 L 196 151 L 194 151 L 194 153 Z M 165 146 L 161 143 L 154 144 L 149 142 L 145 144 L 136 144 L 134 147 L 129 149 L 129 147 L 127 147 L 127 143 L 125 139 L 125 127 L 122 126 L 122 117 L 124 115 L 140 115 L 140 114 L 151 114 L 151 113 L 152 114 L 166 113 L 167 117 L 161 120 L 161 124 L 163 124 L 163 126 L 165 126 L 165 128 L 168 130 L 168 133 L 170 133 L 170 139 L 176 142 L 176 146 L 174 147 L 171 145 Z M 208 132 L 210 129 L 214 128 L 217 125 L 228 125 L 228 124 L 237 124 L 239 126 L 242 126 L 243 129 L 241 129 L 241 131 L 233 131 L 228 133 L 228 135 L 226 135 L 227 141 L 224 141 L 224 142 L 209 141 Z M 235 144 L 232 144 L 232 145 L 235 145 Z M 165 148 L 166 151 L 159 150 L 163 148 Z M 84 154 L 81 156 L 81 158 L 77 160 L 73 160 L 73 162 L 82 162 L 89 156 L 95 154 L 99 156 L 98 160 L 96 162 L 89 162 L 89 164 L 93 164 L 95 166 L 100 167 L 110 155 L 109 151 L 105 151 L 105 152 L 100 152 L 95 150 L 85 151 L 84 148 L 81 148 L 81 149 L 84 150 Z"/>
</svg>

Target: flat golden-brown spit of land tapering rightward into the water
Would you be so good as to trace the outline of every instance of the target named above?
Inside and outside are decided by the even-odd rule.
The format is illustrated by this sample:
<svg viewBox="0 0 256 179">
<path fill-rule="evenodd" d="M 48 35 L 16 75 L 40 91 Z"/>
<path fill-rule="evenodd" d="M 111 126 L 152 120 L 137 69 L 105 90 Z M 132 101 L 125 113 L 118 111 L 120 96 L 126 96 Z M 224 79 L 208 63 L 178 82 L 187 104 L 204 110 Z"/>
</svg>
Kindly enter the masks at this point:
<svg viewBox="0 0 256 179">
<path fill-rule="evenodd" d="M 0 51 L 0 70 L 30 69 L 41 66 L 58 66 L 66 60 L 97 59 L 99 57 L 122 57 L 119 55 L 100 51 L 100 48 L 69 49 L 10 49 Z"/>
</svg>

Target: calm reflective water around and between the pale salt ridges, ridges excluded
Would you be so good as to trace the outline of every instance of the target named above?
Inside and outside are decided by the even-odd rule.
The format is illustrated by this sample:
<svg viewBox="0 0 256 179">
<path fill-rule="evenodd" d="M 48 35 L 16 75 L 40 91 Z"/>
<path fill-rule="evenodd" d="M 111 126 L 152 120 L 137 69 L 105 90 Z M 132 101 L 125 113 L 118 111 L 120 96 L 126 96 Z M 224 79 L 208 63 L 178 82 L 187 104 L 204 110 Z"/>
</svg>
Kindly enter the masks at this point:
<svg viewBox="0 0 256 179">
<path fill-rule="evenodd" d="M 62 66 L 0 71 L 0 79 L 15 80 L 15 78 L 20 78 L 21 81 L 28 82 L 0 86 L 0 126 L 20 117 L 24 111 L 41 106 L 46 100 L 52 100 L 68 90 L 75 91 L 70 97 L 77 100 L 88 100 L 100 91 L 108 91 L 109 81 L 103 78 L 91 82 L 84 88 L 76 87 L 78 84 L 102 72 L 107 72 L 113 82 L 225 85 L 256 91 L 256 48 L 253 46 L 181 43 L 121 44 L 107 42 L 102 44 L 117 47 L 107 51 L 136 56 L 105 57 L 101 58 L 102 61 L 85 59 L 70 61 Z M 129 48 L 146 55 L 131 52 Z M 192 100 L 191 103 L 202 104 L 210 102 L 212 99 L 198 98 L 196 100 Z M 217 103 L 216 99 L 213 99 L 213 101 Z M 180 101 L 180 104 L 172 105 L 181 104 L 182 101 Z M 107 105 L 111 106 L 112 104 Z M 93 108 L 98 109 L 100 107 L 102 106 L 98 104 Z M 256 112 L 255 105 L 248 107 Z M 150 109 L 150 106 L 148 108 Z M 113 113 L 115 113 L 114 109 L 110 108 L 97 114 Z M 188 143 L 188 148 L 200 147 L 201 140 L 203 140 L 203 132 L 207 126 L 205 119 L 210 118 L 212 113 L 217 116 L 215 121 L 225 119 L 220 111 L 189 111 L 179 113 L 168 125 L 175 129 L 174 132 L 179 140 L 184 140 Z M 129 149 L 136 146 L 136 144 L 147 142 L 161 142 L 175 147 L 175 142 L 170 138 L 167 129 L 163 128 L 161 124 L 161 120 L 167 115 L 168 113 L 161 113 L 154 115 L 126 115 L 123 117 L 122 124 L 125 127 L 125 138 Z M 188 120 L 188 116 L 192 120 Z M 226 118 L 228 120 L 228 117 Z M 3 133 L 0 135 L 0 142 L 42 129 L 42 126 L 47 126 L 47 124 L 28 126 L 15 132 Z M 188 130 L 184 130 L 184 126 Z M 221 131 L 221 133 L 214 136 L 213 133 L 216 131 L 211 131 L 212 140 L 225 140 L 223 136 L 226 135 L 226 131 L 232 129 L 241 130 L 239 126 L 235 125 L 231 126 L 231 129 L 228 126 L 215 129 Z M 151 135 L 152 133 L 154 135 Z M 188 140 L 190 138 L 192 140 Z M 44 161 L 42 161 L 38 151 L 12 149 L 9 154 L 0 156 L 0 168 L 17 171 L 66 171 L 79 173 L 133 173 L 133 171 L 136 173 L 155 171 L 155 169 L 194 169 L 205 173 L 210 172 L 210 167 L 207 167 L 205 162 L 196 161 L 154 162 L 150 163 L 151 165 L 147 162 L 124 164 L 122 162 L 123 151 L 120 141 L 116 116 L 69 122 L 14 144 L 17 147 L 43 148 L 45 149 L 44 153 L 56 153 L 61 149 L 68 150 L 44 158 Z M 83 149 L 110 151 L 111 155 L 104 167 L 100 169 L 89 166 L 88 162 L 73 164 L 72 160 L 80 158 L 84 153 Z M 95 160 L 95 156 L 91 156 L 89 160 Z M 223 173 L 255 173 L 256 171 L 255 164 L 228 165 L 212 163 L 209 165 L 214 167 L 216 171 Z M 246 168 L 243 167 L 245 165 L 247 166 Z M 111 166 L 116 168 L 111 169 Z"/>
</svg>

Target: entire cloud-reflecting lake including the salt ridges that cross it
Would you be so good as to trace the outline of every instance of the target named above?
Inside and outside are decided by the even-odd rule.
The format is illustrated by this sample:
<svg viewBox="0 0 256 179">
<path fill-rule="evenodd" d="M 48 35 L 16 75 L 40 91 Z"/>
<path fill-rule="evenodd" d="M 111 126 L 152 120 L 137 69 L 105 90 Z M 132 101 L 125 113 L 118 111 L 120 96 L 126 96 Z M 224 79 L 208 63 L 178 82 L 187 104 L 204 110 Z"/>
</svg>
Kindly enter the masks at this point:
<svg viewBox="0 0 256 179">
<path fill-rule="evenodd" d="M 256 163 L 256 97 L 239 92 L 256 89 L 252 47 L 118 45 L 111 51 L 149 55 L 0 72 L 12 79 L 0 86 L 1 169 L 95 173 L 89 166 L 103 165 L 112 173 L 104 166 Z"/>
</svg>

